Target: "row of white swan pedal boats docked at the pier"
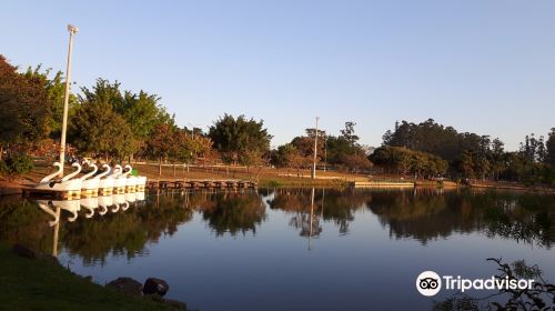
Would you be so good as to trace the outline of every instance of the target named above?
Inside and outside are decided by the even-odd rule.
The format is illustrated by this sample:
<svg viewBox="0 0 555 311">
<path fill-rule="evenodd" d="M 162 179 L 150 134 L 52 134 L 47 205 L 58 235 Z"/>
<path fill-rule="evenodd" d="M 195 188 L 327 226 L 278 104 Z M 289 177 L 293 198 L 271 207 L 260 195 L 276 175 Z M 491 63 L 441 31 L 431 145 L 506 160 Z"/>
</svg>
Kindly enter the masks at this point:
<svg viewBox="0 0 555 311">
<path fill-rule="evenodd" d="M 98 167 L 89 161 L 83 161 L 91 171 L 78 177 L 81 172 L 81 164 L 73 162 L 71 165 L 73 172 L 59 179 L 57 178 L 62 172 L 62 164 L 54 162 L 53 165 L 58 171 L 46 175 L 38 184 L 30 189 L 33 194 L 53 194 L 56 198 L 65 200 L 81 198 L 108 197 L 112 194 L 124 194 L 134 192 L 144 192 L 147 187 L 147 177 L 131 175 L 131 165 L 120 164 L 111 168 L 108 164 L 102 164 L 102 172 L 97 174 Z"/>
</svg>

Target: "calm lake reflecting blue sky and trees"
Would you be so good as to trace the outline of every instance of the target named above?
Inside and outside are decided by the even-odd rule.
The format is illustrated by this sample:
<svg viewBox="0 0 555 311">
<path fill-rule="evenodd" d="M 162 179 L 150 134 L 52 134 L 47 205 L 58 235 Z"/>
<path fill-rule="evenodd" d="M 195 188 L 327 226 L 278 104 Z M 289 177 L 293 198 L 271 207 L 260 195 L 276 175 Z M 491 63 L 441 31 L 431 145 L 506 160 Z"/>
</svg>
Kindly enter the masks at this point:
<svg viewBox="0 0 555 311">
<path fill-rule="evenodd" d="M 54 252 L 100 284 L 164 279 L 168 298 L 201 311 L 431 310 L 453 292 L 421 295 L 422 271 L 490 278 L 497 265 L 487 258 L 523 259 L 555 281 L 555 195 L 260 189 L 125 199 L 117 211 L 77 211 L 2 198 L 0 240 Z"/>
</svg>

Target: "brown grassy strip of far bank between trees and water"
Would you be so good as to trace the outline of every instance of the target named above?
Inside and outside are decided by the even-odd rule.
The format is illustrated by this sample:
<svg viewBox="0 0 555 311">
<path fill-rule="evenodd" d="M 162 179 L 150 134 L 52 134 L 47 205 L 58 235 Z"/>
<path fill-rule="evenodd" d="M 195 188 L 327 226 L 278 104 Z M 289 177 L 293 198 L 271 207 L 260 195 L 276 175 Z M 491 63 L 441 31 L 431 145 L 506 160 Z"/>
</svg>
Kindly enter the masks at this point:
<svg viewBox="0 0 555 311">
<path fill-rule="evenodd" d="M 140 174 L 150 180 L 218 180 L 222 178 L 256 181 L 259 188 L 291 188 L 291 187 L 325 187 L 325 188 L 437 188 L 437 189 L 500 189 L 528 191 L 536 193 L 555 193 L 555 188 L 533 187 L 516 182 L 505 181 L 474 181 L 461 184 L 444 180 L 412 180 L 396 175 L 363 175 L 337 171 L 319 171 L 316 179 L 310 178 L 310 171 L 293 171 L 287 169 L 244 168 L 244 167 L 173 167 L 164 164 L 162 175 L 158 174 L 158 164 L 135 163 Z M 71 169 L 68 167 L 68 171 Z M 51 172 L 50 167 L 38 164 L 36 168 L 14 180 L 0 179 L 0 197 L 22 194 L 23 189 L 38 182 L 44 174 Z M 359 187 L 357 187 L 359 185 Z"/>
</svg>

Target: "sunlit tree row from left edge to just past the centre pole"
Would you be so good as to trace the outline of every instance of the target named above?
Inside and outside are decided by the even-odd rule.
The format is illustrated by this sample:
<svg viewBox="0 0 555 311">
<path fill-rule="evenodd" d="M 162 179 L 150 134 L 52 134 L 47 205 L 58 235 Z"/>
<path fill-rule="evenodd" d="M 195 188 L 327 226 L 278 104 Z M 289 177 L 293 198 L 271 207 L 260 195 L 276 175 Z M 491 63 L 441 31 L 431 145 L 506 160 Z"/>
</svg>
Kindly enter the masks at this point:
<svg viewBox="0 0 555 311">
<path fill-rule="evenodd" d="M 63 111 L 62 72 L 29 67 L 20 72 L 0 56 L 0 157 L 3 172 L 23 172 L 28 154 L 56 159 Z M 349 169 L 372 165 L 359 143 L 354 123 L 341 136 L 319 131 L 317 161 Z M 271 150 L 272 136 L 262 120 L 224 114 L 206 132 L 180 128 L 161 98 L 144 90 L 123 90 L 121 83 L 99 78 L 69 98 L 68 143 L 74 153 L 104 161 L 133 158 L 159 163 L 192 163 L 199 158 L 225 164 L 309 168 L 316 131 L 307 129 L 291 143 Z M 71 150 L 71 149 L 70 149 Z M 71 151 L 70 151 L 71 152 Z M 16 163 L 16 164 L 13 164 Z"/>
</svg>

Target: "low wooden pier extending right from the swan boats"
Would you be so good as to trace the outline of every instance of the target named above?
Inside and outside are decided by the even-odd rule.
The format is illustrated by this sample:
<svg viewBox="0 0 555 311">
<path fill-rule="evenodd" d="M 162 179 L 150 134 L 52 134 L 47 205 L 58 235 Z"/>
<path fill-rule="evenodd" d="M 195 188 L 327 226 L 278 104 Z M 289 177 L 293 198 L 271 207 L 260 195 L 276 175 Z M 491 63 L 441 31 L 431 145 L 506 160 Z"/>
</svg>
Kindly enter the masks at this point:
<svg viewBox="0 0 555 311">
<path fill-rule="evenodd" d="M 258 183 L 246 180 L 149 180 L 148 189 L 249 189 L 256 188 Z"/>
</svg>

